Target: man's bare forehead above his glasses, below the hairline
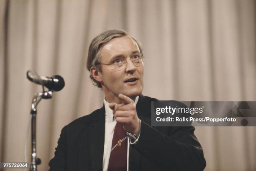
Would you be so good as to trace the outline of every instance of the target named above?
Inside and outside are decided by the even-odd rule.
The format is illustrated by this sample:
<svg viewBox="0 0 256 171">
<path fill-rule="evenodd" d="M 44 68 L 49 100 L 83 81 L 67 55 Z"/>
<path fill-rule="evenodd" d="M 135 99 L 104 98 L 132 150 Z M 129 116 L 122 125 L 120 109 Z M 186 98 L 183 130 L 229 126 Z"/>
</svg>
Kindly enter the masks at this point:
<svg viewBox="0 0 256 171">
<path fill-rule="evenodd" d="M 130 36 L 113 38 L 102 46 L 101 57 L 111 58 L 116 55 L 126 55 L 134 51 L 139 52 L 137 43 Z"/>
</svg>

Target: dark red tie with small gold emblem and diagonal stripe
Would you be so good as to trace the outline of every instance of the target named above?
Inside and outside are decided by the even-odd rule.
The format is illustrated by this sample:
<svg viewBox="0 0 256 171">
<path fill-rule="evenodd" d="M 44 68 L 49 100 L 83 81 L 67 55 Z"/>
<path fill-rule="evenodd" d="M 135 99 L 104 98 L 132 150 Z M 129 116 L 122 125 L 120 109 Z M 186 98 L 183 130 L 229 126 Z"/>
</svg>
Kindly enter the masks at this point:
<svg viewBox="0 0 256 171">
<path fill-rule="evenodd" d="M 127 136 L 121 123 L 116 123 L 108 171 L 127 171 Z"/>
</svg>

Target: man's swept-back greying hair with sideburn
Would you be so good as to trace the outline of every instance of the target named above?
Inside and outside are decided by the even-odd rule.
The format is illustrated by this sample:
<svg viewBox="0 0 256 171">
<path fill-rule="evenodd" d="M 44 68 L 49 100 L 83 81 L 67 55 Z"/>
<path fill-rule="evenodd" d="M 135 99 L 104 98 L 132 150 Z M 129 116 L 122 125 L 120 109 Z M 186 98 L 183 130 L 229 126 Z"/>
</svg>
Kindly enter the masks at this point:
<svg viewBox="0 0 256 171">
<path fill-rule="evenodd" d="M 126 35 L 130 36 L 136 42 L 136 44 L 138 45 L 138 48 L 140 50 L 141 56 L 143 57 L 141 43 L 138 40 L 136 40 L 135 38 L 133 38 L 133 36 L 129 35 L 125 31 L 119 30 L 119 29 L 108 30 L 103 33 L 100 33 L 92 40 L 92 42 L 89 46 L 89 50 L 88 50 L 87 70 L 89 70 L 89 72 L 90 72 L 90 69 L 93 66 L 97 70 L 101 71 L 100 48 L 102 47 L 102 45 L 104 45 L 105 43 L 108 43 L 113 38 L 119 38 L 119 37 L 123 37 Z M 101 83 L 99 81 L 95 80 L 93 78 L 92 74 L 90 74 L 90 78 L 92 79 L 94 85 L 96 85 L 99 88 L 102 88 Z"/>
</svg>

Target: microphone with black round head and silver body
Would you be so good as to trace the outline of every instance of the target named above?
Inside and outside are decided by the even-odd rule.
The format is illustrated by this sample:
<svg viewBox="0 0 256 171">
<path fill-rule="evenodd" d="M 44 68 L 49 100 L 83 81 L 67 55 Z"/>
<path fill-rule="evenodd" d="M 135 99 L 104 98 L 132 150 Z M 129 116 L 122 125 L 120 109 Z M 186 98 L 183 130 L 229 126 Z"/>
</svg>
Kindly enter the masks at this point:
<svg viewBox="0 0 256 171">
<path fill-rule="evenodd" d="M 28 80 L 48 88 L 50 91 L 60 91 L 65 86 L 65 81 L 60 75 L 52 77 L 39 76 L 35 71 L 27 71 Z"/>
</svg>

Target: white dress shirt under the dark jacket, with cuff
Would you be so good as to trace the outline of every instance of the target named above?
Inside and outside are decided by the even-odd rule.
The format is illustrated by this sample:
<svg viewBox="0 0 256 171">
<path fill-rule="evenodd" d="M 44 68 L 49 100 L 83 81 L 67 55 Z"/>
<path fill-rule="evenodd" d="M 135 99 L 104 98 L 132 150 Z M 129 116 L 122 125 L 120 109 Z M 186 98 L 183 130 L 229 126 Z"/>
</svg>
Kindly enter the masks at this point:
<svg viewBox="0 0 256 171">
<path fill-rule="evenodd" d="M 139 96 L 135 98 L 134 104 L 136 105 L 138 102 Z M 104 98 L 104 106 L 105 106 L 105 142 L 104 142 L 104 153 L 103 153 L 103 161 L 102 161 L 102 170 L 108 171 L 108 163 L 110 158 L 110 152 L 111 152 L 111 146 L 112 146 L 112 139 L 114 135 L 114 129 L 115 129 L 115 118 L 113 115 L 112 109 L 109 107 L 109 103 Z M 139 138 L 139 137 L 138 137 Z M 138 141 L 138 138 L 136 139 L 136 143 Z M 129 168 L 129 147 L 130 147 L 130 140 L 128 138 L 127 143 L 127 171 Z M 131 143 L 131 144 L 133 144 Z"/>
</svg>

